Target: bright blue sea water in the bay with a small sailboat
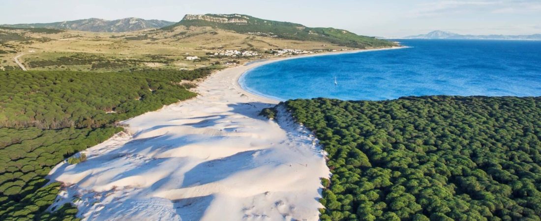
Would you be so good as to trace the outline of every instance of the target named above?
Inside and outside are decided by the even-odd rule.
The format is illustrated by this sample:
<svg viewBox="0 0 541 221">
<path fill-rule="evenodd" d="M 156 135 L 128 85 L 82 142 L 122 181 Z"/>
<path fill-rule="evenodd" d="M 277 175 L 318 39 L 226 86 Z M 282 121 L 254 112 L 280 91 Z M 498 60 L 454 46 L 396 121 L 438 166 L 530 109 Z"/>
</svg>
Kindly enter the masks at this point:
<svg viewBox="0 0 541 221">
<path fill-rule="evenodd" d="M 280 100 L 541 96 L 541 41 L 398 41 L 410 48 L 274 62 L 249 70 L 240 83 Z"/>
</svg>

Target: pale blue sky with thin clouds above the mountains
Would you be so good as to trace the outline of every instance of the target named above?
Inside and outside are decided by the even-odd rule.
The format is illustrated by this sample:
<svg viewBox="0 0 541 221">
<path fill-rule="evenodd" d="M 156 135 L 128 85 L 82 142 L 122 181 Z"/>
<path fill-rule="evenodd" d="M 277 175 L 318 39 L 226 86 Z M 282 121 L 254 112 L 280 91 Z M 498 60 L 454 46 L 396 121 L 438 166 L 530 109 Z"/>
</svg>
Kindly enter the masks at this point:
<svg viewBox="0 0 541 221">
<path fill-rule="evenodd" d="M 140 17 L 180 21 L 185 14 L 246 14 L 397 37 L 432 30 L 459 34 L 541 34 L 541 0 L 0 0 L 0 24 Z"/>
</svg>

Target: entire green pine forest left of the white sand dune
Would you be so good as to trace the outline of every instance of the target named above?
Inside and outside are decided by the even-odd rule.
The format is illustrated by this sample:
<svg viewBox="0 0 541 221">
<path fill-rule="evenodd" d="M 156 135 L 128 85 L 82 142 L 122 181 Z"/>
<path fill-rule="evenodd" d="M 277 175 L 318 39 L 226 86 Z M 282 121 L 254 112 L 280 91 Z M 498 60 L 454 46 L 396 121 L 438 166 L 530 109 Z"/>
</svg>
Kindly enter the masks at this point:
<svg viewBox="0 0 541 221">
<path fill-rule="evenodd" d="M 61 188 L 46 185 L 49 171 L 121 132 L 120 120 L 196 96 L 178 83 L 212 71 L 0 71 L 0 220 L 76 220 L 71 204 L 46 211 Z"/>
</svg>

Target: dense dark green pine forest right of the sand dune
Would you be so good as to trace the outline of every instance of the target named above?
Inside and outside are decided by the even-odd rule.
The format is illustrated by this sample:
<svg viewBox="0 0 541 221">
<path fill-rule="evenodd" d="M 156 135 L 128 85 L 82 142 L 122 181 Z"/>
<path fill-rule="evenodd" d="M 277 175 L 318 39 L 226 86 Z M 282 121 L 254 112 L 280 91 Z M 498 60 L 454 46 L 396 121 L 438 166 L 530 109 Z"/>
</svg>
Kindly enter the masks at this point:
<svg viewBox="0 0 541 221">
<path fill-rule="evenodd" d="M 285 105 L 328 152 L 322 220 L 540 220 L 541 97 Z"/>
</svg>

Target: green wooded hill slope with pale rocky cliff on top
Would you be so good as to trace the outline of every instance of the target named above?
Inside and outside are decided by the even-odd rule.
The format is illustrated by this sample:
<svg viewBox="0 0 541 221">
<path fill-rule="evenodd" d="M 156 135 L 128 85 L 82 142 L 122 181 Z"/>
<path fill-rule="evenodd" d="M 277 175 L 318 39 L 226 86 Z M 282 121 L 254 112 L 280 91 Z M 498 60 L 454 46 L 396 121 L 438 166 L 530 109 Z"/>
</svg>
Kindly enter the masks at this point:
<svg viewBox="0 0 541 221">
<path fill-rule="evenodd" d="M 319 41 L 353 48 L 380 48 L 395 46 L 393 42 L 374 37 L 359 36 L 352 32 L 334 28 L 308 28 L 291 22 L 277 22 L 247 15 L 186 15 L 174 26 L 211 26 L 217 29 L 231 30 L 242 34 L 271 36 L 299 41 Z"/>
</svg>

